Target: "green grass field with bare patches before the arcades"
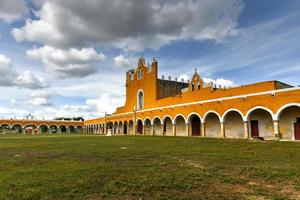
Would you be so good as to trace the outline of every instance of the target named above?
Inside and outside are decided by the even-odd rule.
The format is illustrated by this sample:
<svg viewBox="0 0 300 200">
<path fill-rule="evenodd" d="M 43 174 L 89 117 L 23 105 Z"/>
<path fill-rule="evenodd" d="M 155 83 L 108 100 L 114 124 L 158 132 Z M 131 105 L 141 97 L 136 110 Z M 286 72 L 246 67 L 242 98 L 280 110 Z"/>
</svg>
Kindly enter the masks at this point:
<svg viewBox="0 0 300 200">
<path fill-rule="evenodd" d="M 300 143 L 0 136 L 0 199 L 300 199 Z"/>
</svg>

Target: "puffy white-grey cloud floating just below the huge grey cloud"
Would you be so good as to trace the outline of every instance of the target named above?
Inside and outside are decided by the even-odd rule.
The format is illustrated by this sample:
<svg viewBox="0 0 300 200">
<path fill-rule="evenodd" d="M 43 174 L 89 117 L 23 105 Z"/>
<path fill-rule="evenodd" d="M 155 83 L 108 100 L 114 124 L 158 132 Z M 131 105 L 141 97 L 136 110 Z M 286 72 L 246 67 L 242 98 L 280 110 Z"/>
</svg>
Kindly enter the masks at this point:
<svg viewBox="0 0 300 200">
<path fill-rule="evenodd" d="M 104 54 L 98 54 L 93 48 L 63 50 L 44 46 L 26 53 L 28 57 L 41 61 L 57 78 L 88 76 L 97 71 L 95 64 L 105 59 Z"/>
</svg>

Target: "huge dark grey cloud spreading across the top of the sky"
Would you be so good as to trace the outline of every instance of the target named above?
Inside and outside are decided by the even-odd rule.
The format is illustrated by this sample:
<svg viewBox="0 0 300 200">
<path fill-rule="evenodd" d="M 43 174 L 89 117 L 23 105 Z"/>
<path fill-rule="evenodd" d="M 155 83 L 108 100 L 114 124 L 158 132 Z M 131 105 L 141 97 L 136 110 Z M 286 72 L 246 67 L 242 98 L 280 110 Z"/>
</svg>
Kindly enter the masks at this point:
<svg viewBox="0 0 300 200">
<path fill-rule="evenodd" d="M 98 43 L 132 51 L 186 39 L 220 42 L 236 34 L 243 6 L 241 0 L 51 0 L 12 34 L 58 48 Z"/>
</svg>

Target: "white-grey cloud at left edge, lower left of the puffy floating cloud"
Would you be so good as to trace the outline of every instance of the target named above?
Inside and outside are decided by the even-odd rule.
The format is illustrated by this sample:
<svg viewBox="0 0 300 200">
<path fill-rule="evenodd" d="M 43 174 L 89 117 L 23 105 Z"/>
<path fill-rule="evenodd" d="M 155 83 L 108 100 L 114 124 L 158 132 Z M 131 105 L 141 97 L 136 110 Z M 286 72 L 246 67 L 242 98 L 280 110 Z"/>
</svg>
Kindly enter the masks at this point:
<svg viewBox="0 0 300 200">
<path fill-rule="evenodd" d="M 30 71 L 19 73 L 13 68 L 10 58 L 0 54 L 0 86 L 18 86 L 21 88 L 38 89 L 47 87 L 42 77 L 32 74 Z"/>
</svg>

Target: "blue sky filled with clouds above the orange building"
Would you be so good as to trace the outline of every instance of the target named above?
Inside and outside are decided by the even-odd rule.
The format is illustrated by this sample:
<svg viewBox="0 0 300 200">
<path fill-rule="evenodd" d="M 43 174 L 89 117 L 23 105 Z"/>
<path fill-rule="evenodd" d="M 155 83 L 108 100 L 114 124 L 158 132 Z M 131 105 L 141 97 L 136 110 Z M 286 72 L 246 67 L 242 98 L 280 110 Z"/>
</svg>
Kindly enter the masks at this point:
<svg viewBox="0 0 300 200">
<path fill-rule="evenodd" d="M 300 85 L 297 0 L 74 2 L 0 0 L 0 118 L 113 112 L 140 56 L 159 76 Z"/>
</svg>

